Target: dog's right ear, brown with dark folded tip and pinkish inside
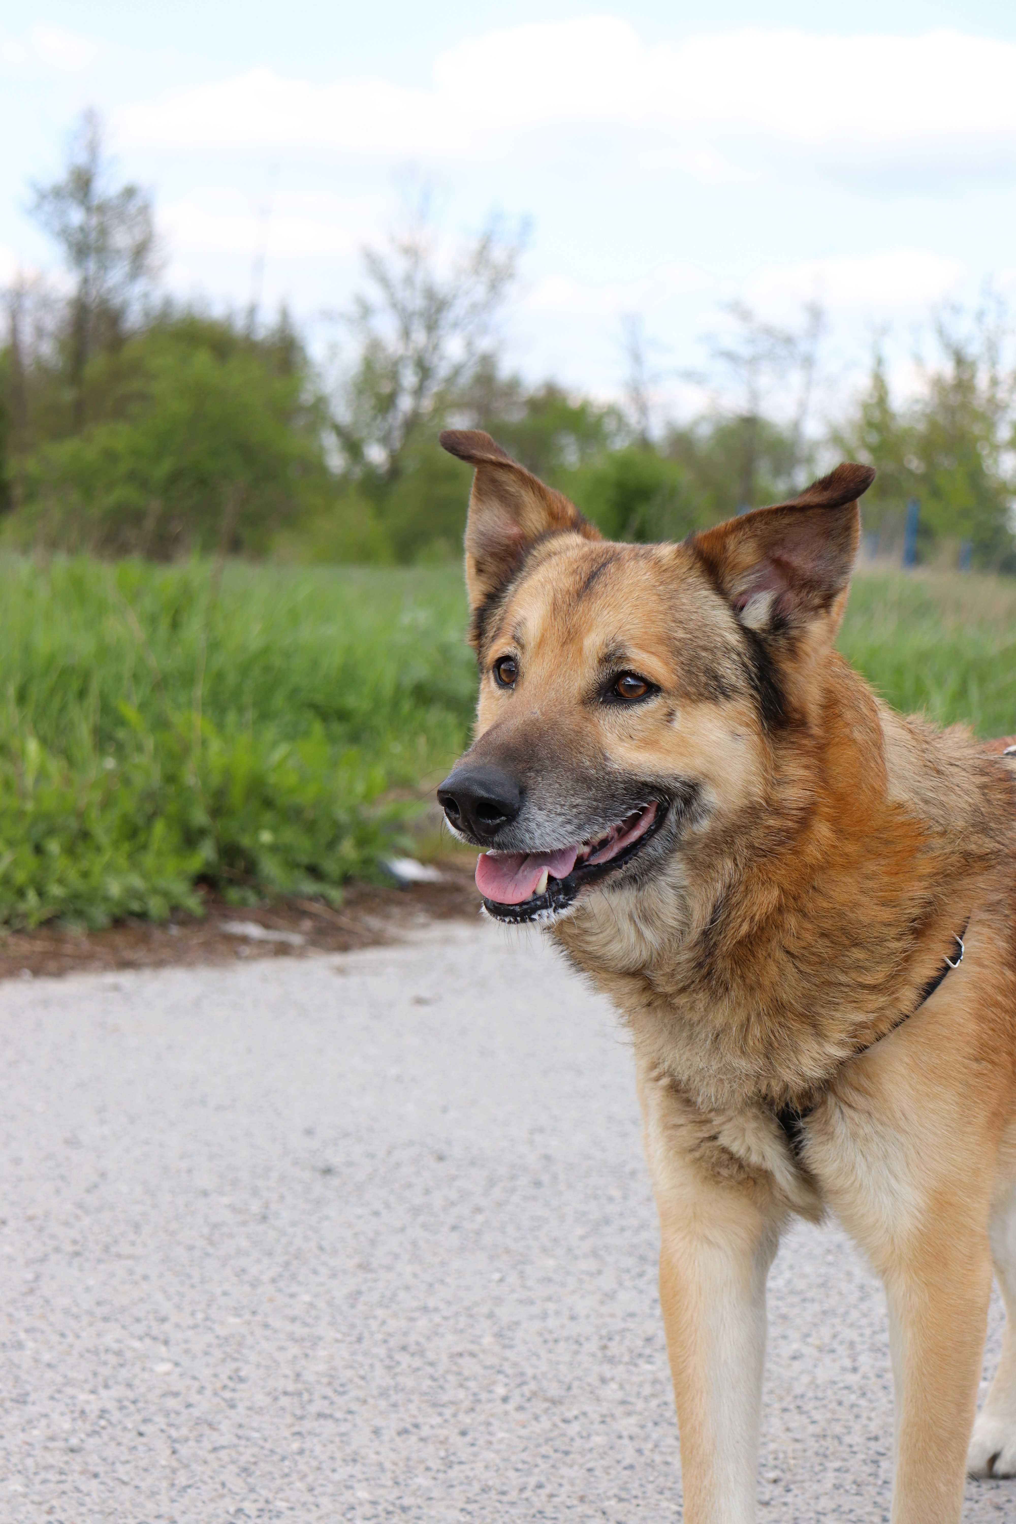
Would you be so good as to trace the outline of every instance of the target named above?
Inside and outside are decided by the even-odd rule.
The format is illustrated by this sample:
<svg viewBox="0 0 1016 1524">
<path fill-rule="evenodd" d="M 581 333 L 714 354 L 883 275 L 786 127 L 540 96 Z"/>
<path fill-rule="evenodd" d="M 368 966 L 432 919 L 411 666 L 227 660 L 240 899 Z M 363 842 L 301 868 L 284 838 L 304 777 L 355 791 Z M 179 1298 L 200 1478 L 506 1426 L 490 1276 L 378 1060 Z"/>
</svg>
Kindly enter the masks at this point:
<svg viewBox="0 0 1016 1524">
<path fill-rule="evenodd" d="M 832 645 L 858 552 L 858 498 L 873 480 L 871 466 L 847 462 L 789 503 L 692 536 L 689 544 L 742 625 L 765 636 L 826 616 Z"/>
</svg>

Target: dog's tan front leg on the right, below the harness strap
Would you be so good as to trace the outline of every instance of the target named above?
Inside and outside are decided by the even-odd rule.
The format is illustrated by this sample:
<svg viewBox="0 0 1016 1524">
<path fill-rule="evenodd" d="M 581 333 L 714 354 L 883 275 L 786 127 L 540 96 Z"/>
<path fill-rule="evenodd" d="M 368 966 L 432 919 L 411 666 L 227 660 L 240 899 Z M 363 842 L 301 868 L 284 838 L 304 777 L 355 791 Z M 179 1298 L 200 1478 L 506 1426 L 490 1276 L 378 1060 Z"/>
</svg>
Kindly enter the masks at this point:
<svg viewBox="0 0 1016 1524">
<path fill-rule="evenodd" d="M 896 1391 L 891 1524 L 958 1524 L 992 1289 L 998 1106 L 944 1050 L 894 1039 L 809 1122 L 804 1160 L 885 1285 Z M 946 1074 L 952 1070 L 955 1082 Z"/>
</svg>

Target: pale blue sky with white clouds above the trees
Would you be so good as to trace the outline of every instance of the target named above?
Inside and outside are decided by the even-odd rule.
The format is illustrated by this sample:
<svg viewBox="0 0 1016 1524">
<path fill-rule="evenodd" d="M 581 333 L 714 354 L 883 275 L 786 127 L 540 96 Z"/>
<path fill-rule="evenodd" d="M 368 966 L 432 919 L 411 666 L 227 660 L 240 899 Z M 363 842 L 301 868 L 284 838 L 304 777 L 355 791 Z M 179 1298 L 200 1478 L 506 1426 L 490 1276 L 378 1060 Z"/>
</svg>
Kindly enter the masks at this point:
<svg viewBox="0 0 1016 1524">
<path fill-rule="evenodd" d="M 730 302 L 792 325 L 818 300 L 827 392 L 876 335 L 905 386 L 937 303 L 1016 299 L 1013 81 L 1011 0 L 15 0 L 0 282 L 55 270 L 29 186 L 93 105 L 180 297 L 285 302 L 323 341 L 427 197 L 445 256 L 527 229 L 504 338 L 529 379 L 615 393 L 634 315 L 689 402 Z"/>
</svg>

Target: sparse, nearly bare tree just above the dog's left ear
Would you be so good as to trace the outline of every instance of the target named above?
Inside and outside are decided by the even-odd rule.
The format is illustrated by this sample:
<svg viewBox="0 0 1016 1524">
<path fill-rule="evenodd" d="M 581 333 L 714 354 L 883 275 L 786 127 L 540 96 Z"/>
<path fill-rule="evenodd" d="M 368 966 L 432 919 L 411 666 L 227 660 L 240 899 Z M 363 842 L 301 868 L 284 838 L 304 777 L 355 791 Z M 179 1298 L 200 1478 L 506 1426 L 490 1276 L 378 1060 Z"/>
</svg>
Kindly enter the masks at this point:
<svg viewBox="0 0 1016 1524">
<path fill-rule="evenodd" d="M 349 463 L 399 474 L 417 425 L 454 405 L 490 369 L 495 319 L 515 280 L 521 236 L 497 226 L 442 261 L 427 213 L 364 251 L 369 288 L 349 317 L 358 360 L 340 399 L 337 436 Z"/>
</svg>

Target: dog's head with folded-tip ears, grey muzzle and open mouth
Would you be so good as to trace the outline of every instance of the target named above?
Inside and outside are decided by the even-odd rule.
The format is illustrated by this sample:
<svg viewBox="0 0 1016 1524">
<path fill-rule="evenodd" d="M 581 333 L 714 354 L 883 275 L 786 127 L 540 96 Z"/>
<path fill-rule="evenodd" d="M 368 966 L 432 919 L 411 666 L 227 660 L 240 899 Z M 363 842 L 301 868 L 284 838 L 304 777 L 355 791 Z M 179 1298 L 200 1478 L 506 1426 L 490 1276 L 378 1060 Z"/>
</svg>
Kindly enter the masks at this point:
<svg viewBox="0 0 1016 1524">
<path fill-rule="evenodd" d="M 487 434 L 442 445 L 475 466 L 480 700 L 437 797 L 484 853 L 487 913 L 553 919 L 653 879 L 762 799 L 778 736 L 809 724 L 874 472 L 841 465 L 682 544 L 626 546 Z"/>
</svg>

